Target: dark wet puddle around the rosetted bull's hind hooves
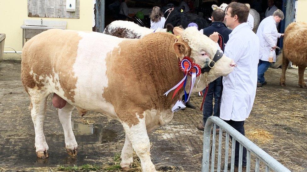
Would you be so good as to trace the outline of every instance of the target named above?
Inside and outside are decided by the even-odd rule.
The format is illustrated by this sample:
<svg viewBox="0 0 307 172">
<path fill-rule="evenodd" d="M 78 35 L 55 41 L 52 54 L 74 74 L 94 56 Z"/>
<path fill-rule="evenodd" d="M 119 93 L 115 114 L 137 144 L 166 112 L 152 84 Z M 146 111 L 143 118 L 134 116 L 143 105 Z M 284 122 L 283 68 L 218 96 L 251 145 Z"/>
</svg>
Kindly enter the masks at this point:
<svg viewBox="0 0 307 172">
<path fill-rule="evenodd" d="M 10 133 L 0 138 L 0 165 L 9 167 L 45 167 L 58 164 L 83 165 L 92 163 L 86 159 L 98 159 L 108 154 L 101 152 L 98 144 L 114 142 L 117 134 L 113 130 L 103 128 L 101 125 L 85 125 L 72 122 L 73 131 L 78 143 L 77 156 L 71 157 L 66 153 L 64 132 L 61 124 L 55 127 L 52 134 L 45 134 L 49 146 L 49 158 L 38 159 L 35 154 L 35 135 L 28 133 Z M 29 128 L 30 129 L 30 128 Z M 47 133 L 45 131 L 45 133 Z M 101 155 L 101 156 L 100 156 Z"/>
</svg>

